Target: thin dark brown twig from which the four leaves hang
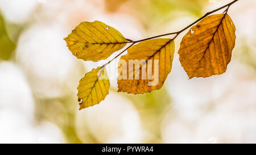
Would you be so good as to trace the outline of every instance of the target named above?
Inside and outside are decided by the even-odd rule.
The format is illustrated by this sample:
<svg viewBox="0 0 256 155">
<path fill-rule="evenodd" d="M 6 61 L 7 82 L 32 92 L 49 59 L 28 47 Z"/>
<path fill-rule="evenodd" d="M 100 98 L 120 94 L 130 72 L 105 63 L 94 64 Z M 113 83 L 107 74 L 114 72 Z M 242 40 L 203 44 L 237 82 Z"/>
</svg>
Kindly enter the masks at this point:
<svg viewBox="0 0 256 155">
<path fill-rule="evenodd" d="M 200 22 L 200 20 L 204 19 L 206 16 L 210 15 L 210 14 L 213 14 L 214 12 L 217 12 L 221 9 L 224 9 L 225 7 L 227 7 L 227 9 L 223 12 L 223 14 L 227 14 L 228 13 L 228 10 L 229 10 L 229 7 L 231 5 L 233 5 L 233 3 L 236 3 L 237 1 L 239 0 L 234 0 L 230 3 L 228 3 L 227 5 L 224 5 L 222 7 L 219 7 L 218 9 L 216 10 L 213 10 L 213 11 L 210 11 L 210 12 L 207 12 L 204 16 L 202 16 L 201 18 L 197 19 L 195 22 L 189 24 L 189 26 L 183 28 L 182 30 L 180 31 L 177 31 L 177 32 L 171 32 L 171 33 L 166 33 L 166 34 L 163 34 L 163 35 L 158 35 L 158 36 L 153 36 L 153 37 L 148 37 L 146 39 L 141 39 L 141 40 L 136 40 L 136 41 L 133 41 L 131 39 L 126 39 L 127 40 L 127 43 L 132 43 L 129 47 L 127 47 L 125 50 L 123 50 L 121 53 L 119 53 L 119 55 L 115 56 L 112 60 L 110 60 L 109 62 L 107 62 L 104 66 L 102 66 L 102 68 L 104 69 L 106 67 L 106 65 L 110 64 L 110 62 L 112 62 L 115 58 L 117 58 L 118 56 L 122 55 L 123 52 L 125 52 L 127 49 L 129 49 L 131 46 L 133 46 L 135 43 L 139 43 L 141 41 L 146 41 L 146 40 L 150 40 L 150 39 L 155 39 L 157 37 L 162 37 L 162 36 L 168 36 L 168 35 L 175 35 L 174 38 L 172 38 L 171 40 L 174 40 L 176 39 L 177 36 L 180 35 L 181 32 L 187 30 L 189 27 L 193 26 L 194 24 L 196 24 L 197 22 Z M 103 70 L 102 69 L 102 70 Z"/>
</svg>

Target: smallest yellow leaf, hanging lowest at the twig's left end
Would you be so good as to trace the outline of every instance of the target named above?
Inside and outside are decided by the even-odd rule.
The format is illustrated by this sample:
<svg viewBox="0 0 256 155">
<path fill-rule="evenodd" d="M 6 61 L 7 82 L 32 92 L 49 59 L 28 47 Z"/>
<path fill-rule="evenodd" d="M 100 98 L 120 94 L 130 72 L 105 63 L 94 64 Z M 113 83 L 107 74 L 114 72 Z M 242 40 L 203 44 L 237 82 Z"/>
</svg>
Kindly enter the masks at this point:
<svg viewBox="0 0 256 155">
<path fill-rule="evenodd" d="M 100 103 L 109 94 L 110 82 L 108 73 L 106 69 L 103 71 L 102 69 L 101 67 L 93 69 L 80 80 L 77 87 L 79 110 Z"/>
</svg>

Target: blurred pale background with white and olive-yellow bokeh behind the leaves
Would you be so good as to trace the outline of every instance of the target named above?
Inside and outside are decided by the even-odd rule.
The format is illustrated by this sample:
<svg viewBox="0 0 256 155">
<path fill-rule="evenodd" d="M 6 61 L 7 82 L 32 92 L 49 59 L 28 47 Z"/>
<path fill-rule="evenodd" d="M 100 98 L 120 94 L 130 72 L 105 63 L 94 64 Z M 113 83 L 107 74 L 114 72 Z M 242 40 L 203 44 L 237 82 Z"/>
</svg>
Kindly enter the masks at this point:
<svg viewBox="0 0 256 155">
<path fill-rule="evenodd" d="M 117 93 L 112 79 L 106 99 L 81 111 L 79 80 L 105 61 L 78 60 L 63 40 L 94 20 L 132 40 L 175 32 L 231 1 L 0 0 L 0 143 L 256 143 L 255 0 L 229 9 L 237 40 L 225 74 L 188 79 L 185 31 L 162 89 Z"/>
</svg>

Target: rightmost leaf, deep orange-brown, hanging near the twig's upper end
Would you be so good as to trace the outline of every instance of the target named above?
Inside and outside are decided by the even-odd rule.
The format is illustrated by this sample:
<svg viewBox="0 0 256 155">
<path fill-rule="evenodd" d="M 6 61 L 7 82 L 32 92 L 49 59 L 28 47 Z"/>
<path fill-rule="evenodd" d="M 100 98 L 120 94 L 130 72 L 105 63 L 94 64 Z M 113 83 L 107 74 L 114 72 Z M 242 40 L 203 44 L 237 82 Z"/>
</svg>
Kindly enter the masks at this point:
<svg viewBox="0 0 256 155">
<path fill-rule="evenodd" d="M 205 17 L 180 44 L 180 63 L 189 78 L 226 72 L 235 45 L 236 27 L 228 14 Z"/>
</svg>

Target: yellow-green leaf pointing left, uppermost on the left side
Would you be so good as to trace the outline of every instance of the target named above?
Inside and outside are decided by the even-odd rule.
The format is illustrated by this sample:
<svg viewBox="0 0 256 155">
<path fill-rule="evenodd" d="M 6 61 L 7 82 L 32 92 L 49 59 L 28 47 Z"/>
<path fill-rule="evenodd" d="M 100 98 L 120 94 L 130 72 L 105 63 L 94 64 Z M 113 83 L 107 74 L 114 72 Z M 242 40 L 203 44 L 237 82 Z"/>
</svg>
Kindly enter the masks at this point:
<svg viewBox="0 0 256 155">
<path fill-rule="evenodd" d="M 88 61 L 105 60 L 125 47 L 123 35 L 102 22 L 82 22 L 64 39 L 74 56 Z"/>
</svg>

